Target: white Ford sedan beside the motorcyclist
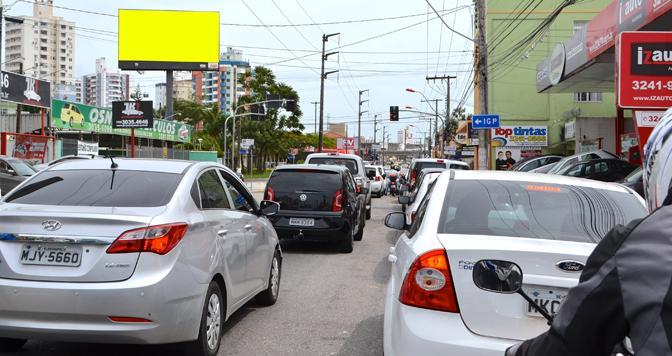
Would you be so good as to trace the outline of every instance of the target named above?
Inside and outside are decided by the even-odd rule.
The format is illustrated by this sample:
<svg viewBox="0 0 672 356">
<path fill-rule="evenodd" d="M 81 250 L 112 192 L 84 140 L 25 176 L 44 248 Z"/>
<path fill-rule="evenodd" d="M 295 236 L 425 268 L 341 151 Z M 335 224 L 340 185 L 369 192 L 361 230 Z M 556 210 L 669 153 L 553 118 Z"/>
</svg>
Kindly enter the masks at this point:
<svg viewBox="0 0 672 356">
<path fill-rule="evenodd" d="M 389 260 L 386 356 L 501 356 L 548 330 L 517 294 L 473 282 L 474 263 L 507 260 L 525 271 L 523 290 L 557 312 L 597 242 L 615 225 L 647 214 L 632 190 L 585 179 L 515 172 L 446 171 L 420 204 Z"/>
</svg>

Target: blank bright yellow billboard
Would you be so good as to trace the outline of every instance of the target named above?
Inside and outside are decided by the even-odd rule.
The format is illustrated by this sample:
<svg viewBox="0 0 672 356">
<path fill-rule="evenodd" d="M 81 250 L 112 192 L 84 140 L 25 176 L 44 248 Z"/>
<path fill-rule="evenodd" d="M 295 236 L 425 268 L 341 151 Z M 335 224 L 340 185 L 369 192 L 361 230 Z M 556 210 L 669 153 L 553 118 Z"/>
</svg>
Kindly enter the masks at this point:
<svg viewBox="0 0 672 356">
<path fill-rule="evenodd" d="M 119 10 L 119 68 L 208 70 L 219 62 L 219 12 Z"/>
</svg>

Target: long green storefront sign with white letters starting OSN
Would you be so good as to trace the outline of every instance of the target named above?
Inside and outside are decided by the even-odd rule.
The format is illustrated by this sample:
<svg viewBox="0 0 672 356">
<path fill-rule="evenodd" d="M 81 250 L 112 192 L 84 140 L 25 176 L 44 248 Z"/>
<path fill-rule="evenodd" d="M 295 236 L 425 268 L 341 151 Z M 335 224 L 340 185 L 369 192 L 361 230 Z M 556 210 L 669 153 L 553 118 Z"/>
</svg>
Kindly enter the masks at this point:
<svg viewBox="0 0 672 356">
<path fill-rule="evenodd" d="M 112 127 L 112 109 L 52 100 L 52 126 L 62 130 L 97 132 L 130 136 L 130 129 Z M 154 140 L 191 142 L 191 125 L 177 121 L 155 119 L 152 128 L 136 129 L 135 137 Z"/>
</svg>

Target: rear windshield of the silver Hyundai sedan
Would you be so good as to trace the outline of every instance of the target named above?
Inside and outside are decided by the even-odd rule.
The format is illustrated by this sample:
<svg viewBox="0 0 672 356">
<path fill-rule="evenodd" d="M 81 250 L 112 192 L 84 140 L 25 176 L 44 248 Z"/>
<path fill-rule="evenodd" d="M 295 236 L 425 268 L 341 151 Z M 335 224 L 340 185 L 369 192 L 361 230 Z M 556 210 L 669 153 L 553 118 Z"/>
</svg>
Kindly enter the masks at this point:
<svg viewBox="0 0 672 356">
<path fill-rule="evenodd" d="M 170 201 L 181 179 L 181 174 L 163 172 L 46 171 L 4 201 L 63 206 L 162 206 Z"/>
</svg>

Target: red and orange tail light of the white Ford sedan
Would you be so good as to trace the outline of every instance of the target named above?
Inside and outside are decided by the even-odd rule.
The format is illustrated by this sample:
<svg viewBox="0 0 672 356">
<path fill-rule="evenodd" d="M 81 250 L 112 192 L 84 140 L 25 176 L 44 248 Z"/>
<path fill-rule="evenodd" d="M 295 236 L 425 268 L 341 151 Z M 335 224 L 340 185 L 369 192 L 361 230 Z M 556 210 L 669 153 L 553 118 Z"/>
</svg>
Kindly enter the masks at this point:
<svg viewBox="0 0 672 356">
<path fill-rule="evenodd" d="M 444 250 L 429 251 L 413 262 L 401 286 L 399 301 L 418 308 L 460 312 Z"/>
</svg>

